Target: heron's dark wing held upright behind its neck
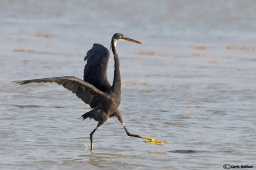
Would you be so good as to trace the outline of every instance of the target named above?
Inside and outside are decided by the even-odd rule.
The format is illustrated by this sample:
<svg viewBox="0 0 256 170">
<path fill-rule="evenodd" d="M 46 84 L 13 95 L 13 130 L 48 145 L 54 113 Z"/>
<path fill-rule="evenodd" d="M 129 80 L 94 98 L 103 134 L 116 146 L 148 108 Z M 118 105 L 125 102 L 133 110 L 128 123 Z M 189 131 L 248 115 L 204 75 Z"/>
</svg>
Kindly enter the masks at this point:
<svg viewBox="0 0 256 170">
<path fill-rule="evenodd" d="M 101 44 L 93 44 L 85 56 L 87 63 L 83 70 L 83 80 L 92 84 L 101 91 L 107 91 L 111 85 L 107 80 L 107 64 L 109 63 L 110 53 Z"/>
</svg>

